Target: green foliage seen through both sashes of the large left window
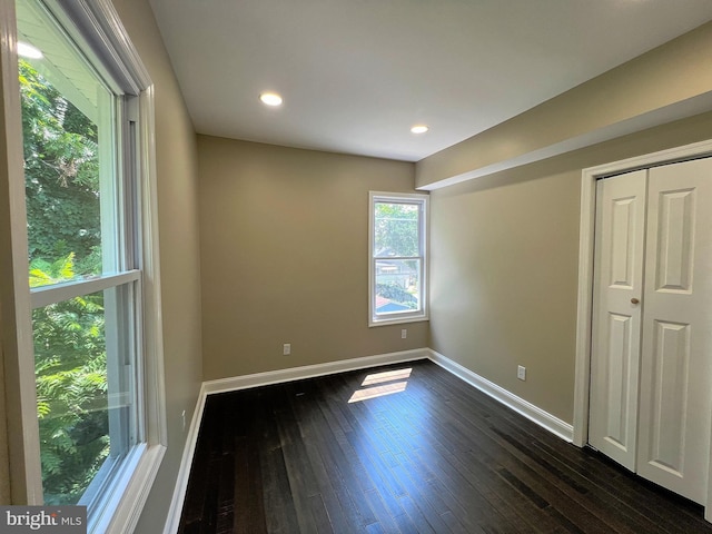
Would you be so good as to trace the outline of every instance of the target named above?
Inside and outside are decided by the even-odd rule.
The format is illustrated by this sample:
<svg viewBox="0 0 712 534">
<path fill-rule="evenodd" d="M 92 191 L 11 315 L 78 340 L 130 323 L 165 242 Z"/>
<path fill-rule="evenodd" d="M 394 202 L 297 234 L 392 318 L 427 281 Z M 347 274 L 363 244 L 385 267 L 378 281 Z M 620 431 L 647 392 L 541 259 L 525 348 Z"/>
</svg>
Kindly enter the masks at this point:
<svg viewBox="0 0 712 534">
<path fill-rule="evenodd" d="M 20 59 L 30 286 L 101 273 L 97 126 Z M 32 313 L 47 504 L 73 504 L 109 454 L 103 294 Z"/>
</svg>

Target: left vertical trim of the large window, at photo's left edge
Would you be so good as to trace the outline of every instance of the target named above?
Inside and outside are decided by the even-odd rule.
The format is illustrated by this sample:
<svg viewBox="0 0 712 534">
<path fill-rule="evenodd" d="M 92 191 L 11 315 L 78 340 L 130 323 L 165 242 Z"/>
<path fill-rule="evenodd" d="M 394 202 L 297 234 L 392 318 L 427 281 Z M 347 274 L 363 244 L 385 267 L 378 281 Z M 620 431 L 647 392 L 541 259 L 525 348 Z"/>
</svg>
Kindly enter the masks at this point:
<svg viewBox="0 0 712 534">
<path fill-rule="evenodd" d="M 17 28 L 14 1 L 0 0 L 0 66 L 2 68 L 2 113 L 4 130 L 0 132 L 0 187 L 2 224 L 0 247 L 0 327 L 4 359 L 8 449 L 10 455 L 10 492 L 12 504 L 40 504 L 41 467 L 37 392 L 32 354 L 30 291 L 28 288 L 27 229 L 10 224 L 26 220 L 22 155 L 22 117 L 17 79 Z M 3 176 L 4 175 L 4 176 Z M 4 208 L 8 208 L 6 211 Z M 9 254 L 8 254 L 9 253 Z M 40 481 L 39 493 L 37 481 Z"/>
</svg>

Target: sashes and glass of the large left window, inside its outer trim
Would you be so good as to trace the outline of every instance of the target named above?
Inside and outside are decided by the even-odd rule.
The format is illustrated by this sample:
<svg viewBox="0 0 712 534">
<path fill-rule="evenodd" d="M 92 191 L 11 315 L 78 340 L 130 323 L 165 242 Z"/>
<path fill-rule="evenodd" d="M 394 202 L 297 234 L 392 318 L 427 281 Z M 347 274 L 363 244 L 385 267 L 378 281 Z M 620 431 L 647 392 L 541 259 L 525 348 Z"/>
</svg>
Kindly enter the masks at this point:
<svg viewBox="0 0 712 534">
<path fill-rule="evenodd" d="M 103 530 L 147 439 L 137 97 L 42 2 L 16 8 L 19 40 L 43 52 L 18 62 L 44 502 L 87 505 Z"/>
</svg>

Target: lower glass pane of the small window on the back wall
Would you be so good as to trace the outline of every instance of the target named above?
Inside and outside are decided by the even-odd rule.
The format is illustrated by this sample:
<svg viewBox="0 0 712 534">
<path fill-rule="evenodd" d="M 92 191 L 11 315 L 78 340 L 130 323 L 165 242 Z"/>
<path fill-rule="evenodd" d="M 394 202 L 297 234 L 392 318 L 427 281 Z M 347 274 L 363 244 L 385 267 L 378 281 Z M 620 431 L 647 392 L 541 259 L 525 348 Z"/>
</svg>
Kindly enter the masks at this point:
<svg viewBox="0 0 712 534">
<path fill-rule="evenodd" d="M 421 309 L 421 260 L 376 260 L 376 315 Z"/>
</svg>

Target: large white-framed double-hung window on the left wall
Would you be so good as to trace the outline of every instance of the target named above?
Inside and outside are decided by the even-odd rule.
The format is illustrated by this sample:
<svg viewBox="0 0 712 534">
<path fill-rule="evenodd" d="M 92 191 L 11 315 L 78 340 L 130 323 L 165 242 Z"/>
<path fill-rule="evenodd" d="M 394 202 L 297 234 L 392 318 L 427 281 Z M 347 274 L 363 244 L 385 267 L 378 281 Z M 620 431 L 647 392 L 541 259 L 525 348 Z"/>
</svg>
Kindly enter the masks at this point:
<svg viewBox="0 0 712 534">
<path fill-rule="evenodd" d="M 13 225 L 27 228 L 39 427 L 28 484 L 44 504 L 86 505 L 90 532 L 127 532 L 165 421 L 151 103 L 107 9 L 16 1 L 27 216 Z"/>
</svg>

